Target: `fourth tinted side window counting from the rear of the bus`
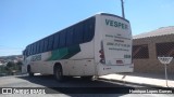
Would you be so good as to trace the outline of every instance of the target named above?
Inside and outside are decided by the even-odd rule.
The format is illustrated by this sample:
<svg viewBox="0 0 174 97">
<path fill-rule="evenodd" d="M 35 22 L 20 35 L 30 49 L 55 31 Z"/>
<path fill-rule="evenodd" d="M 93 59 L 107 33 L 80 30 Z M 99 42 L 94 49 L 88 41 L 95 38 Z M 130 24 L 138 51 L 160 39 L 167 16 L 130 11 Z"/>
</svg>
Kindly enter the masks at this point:
<svg viewBox="0 0 174 97">
<path fill-rule="evenodd" d="M 66 44 L 66 31 L 63 30 L 60 32 L 60 47 L 64 47 Z"/>
</svg>

